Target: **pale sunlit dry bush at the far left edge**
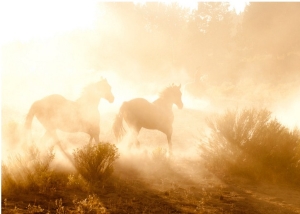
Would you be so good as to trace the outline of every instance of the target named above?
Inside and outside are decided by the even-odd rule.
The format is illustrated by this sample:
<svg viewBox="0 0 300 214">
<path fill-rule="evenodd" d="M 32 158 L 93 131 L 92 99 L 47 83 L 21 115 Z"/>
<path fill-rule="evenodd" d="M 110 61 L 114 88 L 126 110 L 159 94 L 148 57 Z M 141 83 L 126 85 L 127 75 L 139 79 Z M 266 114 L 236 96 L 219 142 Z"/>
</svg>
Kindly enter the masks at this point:
<svg viewBox="0 0 300 214">
<path fill-rule="evenodd" d="M 35 145 L 23 155 L 11 156 L 7 163 L 2 162 L 2 193 L 55 190 L 57 182 L 50 169 L 53 159 L 53 148 L 43 153 Z"/>
</svg>

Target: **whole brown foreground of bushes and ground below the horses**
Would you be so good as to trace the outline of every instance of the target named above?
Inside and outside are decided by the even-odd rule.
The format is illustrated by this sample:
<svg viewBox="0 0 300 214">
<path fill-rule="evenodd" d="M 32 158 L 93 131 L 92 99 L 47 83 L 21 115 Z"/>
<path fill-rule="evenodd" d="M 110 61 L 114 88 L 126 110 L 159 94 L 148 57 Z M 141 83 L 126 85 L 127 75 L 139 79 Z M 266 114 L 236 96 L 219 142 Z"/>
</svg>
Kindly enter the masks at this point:
<svg viewBox="0 0 300 214">
<path fill-rule="evenodd" d="M 207 124 L 194 160 L 87 144 L 73 153 L 74 172 L 51 168 L 52 148 L 31 146 L 2 163 L 2 213 L 300 213 L 299 131 L 258 109 Z"/>
</svg>

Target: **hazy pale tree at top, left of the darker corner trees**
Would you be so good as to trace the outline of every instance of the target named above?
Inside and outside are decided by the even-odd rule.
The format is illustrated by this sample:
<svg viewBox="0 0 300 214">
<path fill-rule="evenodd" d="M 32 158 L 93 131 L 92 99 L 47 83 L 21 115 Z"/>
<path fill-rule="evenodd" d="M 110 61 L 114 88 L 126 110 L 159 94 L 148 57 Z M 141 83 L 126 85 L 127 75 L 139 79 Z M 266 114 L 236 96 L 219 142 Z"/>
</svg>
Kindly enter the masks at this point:
<svg viewBox="0 0 300 214">
<path fill-rule="evenodd" d="M 227 64 L 231 63 L 234 52 L 234 20 L 237 15 L 228 7 L 229 4 L 224 2 L 200 2 L 189 22 L 187 47 L 193 60 L 191 64 L 200 68 L 202 74 L 218 77 L 215 79 L 226 76 Z"/>
</svg>

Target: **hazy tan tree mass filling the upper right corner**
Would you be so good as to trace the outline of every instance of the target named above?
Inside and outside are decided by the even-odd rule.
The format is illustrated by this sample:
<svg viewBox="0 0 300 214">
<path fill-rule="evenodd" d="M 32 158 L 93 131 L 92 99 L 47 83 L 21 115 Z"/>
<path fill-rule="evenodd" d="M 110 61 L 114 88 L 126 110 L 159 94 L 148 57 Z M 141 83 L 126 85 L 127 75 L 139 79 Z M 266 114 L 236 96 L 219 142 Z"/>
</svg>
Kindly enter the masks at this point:
<svg viewBox="0 0 300 214">
<path fill-rule="evenodd" d="M 250 3 L 235 37 L 235 68 L 273 84 L 300 80 L 299 14 L 299 2 Z"/>
</svg>

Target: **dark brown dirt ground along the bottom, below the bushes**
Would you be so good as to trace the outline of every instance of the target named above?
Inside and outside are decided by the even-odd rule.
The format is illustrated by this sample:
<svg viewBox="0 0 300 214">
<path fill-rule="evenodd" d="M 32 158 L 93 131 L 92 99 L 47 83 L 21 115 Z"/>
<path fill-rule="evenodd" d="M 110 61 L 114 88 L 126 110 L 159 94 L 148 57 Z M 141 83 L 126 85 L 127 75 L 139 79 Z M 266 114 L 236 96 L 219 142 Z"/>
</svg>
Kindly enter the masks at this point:
<svg viewBox="0 0 300 214">
<path fill-rule="evenodd" d="M 220 179 L 201 162 L 181 158 L 171 163 L 123 159 L 112 180 L 93 193 L 105 208 L 103 213 L 300 213 L 299 189 Z M 40 213 L 55 213 L 55 200 L 60 198 L 66 213 L 76 213 L 74 198 L 84 200 L 90 194 L 62 189 L 52 195 L 2 195 L 7 200 L 2 201 L 2 213 L 32 213 L 28 204 L 40 205 L 44 209 Z"/>
</svg>

